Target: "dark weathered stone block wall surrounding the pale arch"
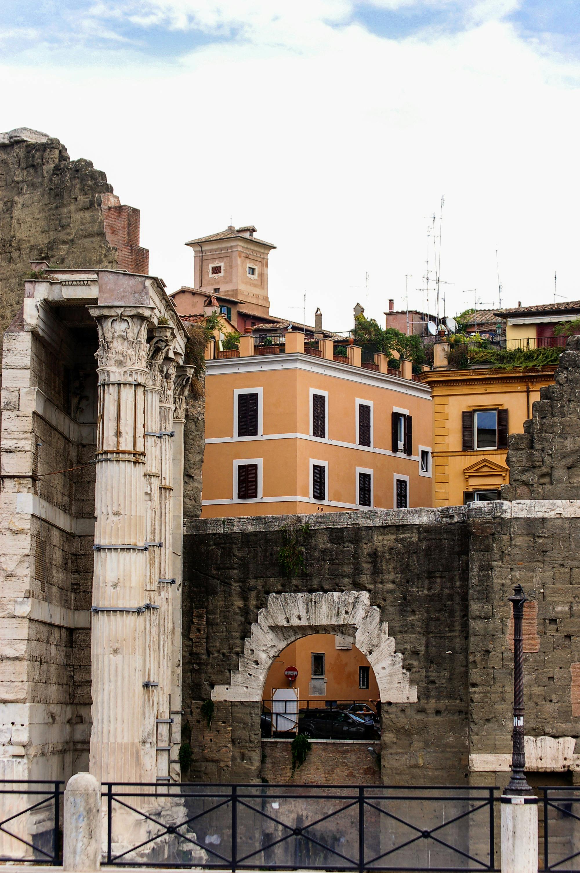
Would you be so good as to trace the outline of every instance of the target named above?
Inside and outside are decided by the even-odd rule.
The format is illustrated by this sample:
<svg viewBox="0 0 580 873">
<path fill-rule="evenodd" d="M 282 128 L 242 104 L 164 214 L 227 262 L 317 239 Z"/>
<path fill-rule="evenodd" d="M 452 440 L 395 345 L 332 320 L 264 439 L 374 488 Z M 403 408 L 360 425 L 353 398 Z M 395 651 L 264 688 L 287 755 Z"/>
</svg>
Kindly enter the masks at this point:
<svg viewBox="0 0 580 873">
<path fill-rule="evenodd" d="M 535 592 L 525 627 L 526 735 L 562 739 L 539 765 L 538 754 L 535 766 L 554 771 L 580 760 L 564 761 L 561 754 L 564 747 L 570 753 L 577 736 L 580 502 L 310 517 L 304 573 L 294 579 L 277 561 L 281 528 L 290 520 L 186 525 L 183 705 L 194 778 L 263 775 L 259 704 L 216 699 L 210 728 L 200 709 L 222 693 L 216 686 L 232 683 L 250 625 L 274 592 L 368 591 L 417 686 L 416 703 L 383 702 L 383 780 L 479 784 L 508 777 L 513 627 L 507 598 L 521 582 Z M 327 781 L 332 772 L 329 766 Z"/>
</svg>

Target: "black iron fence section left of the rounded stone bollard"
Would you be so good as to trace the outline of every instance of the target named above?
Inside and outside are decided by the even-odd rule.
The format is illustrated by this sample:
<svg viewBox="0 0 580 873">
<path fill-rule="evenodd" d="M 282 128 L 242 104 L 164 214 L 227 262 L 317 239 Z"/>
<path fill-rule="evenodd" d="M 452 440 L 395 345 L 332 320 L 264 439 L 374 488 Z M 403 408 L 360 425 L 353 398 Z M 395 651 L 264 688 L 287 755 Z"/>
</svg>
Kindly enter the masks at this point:
<svg viewBox="0 0 580 873">
<path fill-rule="evenodd" d="M 63 863 L 64 782 L 0 782 L 0 862 Z"/>
</svg>

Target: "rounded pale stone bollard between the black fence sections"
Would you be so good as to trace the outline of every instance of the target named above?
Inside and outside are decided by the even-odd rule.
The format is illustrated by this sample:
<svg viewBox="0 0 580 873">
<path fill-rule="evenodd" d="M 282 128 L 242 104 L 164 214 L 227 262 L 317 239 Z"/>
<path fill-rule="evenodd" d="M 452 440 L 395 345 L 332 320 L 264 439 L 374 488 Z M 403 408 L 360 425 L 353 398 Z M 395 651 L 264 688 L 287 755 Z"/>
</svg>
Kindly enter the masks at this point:
<svg viewBox="0 0 580 873">
<path fill-rule="evenodd" d="M 94 871 L 100 868 L 100 786 L 90 773 L 72 776 L 65 788 L 63 867 Z"/>
</svg>

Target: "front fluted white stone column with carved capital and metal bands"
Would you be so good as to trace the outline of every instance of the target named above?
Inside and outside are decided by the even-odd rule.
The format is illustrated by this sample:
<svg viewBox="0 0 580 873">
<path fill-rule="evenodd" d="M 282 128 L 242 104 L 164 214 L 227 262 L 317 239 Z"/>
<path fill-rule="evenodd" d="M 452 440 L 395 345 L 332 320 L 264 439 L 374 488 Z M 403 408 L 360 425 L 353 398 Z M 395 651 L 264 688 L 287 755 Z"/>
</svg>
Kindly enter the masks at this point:
<svg viewBox="0 0 580 873">
<path fill-rule="evenodd" d="M 152 691 L 144 622 L 152 611 L 144 481 L 152 308 L 90 313 L 99 329 L 90 766 L 99 781 L 148 781 L 155 777 L 154 731 L 143 718 Z"/>
</svg>

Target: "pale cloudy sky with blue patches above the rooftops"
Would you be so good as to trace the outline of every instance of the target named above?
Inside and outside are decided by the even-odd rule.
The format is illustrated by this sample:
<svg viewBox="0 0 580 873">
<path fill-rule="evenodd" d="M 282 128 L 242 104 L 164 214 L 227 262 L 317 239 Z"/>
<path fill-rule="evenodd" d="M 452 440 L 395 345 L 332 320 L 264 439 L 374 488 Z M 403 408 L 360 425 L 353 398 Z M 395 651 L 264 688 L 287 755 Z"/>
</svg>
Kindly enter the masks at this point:
<svg viewBox="0 0 580 873">
<path fill-rule="evenodd" d="M 435 313 L 437 273 L 440 315 L 580 299 L 577 0 L 3 0 L 0 93 L 140 208 L 169 291 L 234 223 L 271 313 L 333 330 L 427 275 Z"/>
</svg>

